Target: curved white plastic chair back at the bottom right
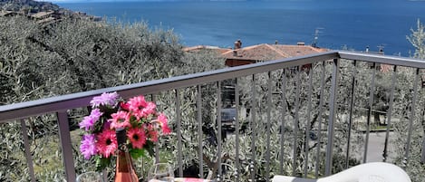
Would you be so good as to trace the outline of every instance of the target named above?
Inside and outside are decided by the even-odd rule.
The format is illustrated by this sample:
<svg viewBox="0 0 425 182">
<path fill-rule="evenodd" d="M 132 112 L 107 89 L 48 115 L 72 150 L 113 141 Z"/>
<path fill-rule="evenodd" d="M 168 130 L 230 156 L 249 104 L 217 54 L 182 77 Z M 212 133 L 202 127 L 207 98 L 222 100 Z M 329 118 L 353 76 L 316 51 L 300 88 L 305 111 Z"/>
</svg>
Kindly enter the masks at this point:
<svg viewBox="0 0 425 182">
<path fill-rule="evenodd" d="M 365 163 L 329 177 L 306 179 L 275 176 L 272 182 L 411 182 L 402 168 L 385 162 Z"/>
</svg>

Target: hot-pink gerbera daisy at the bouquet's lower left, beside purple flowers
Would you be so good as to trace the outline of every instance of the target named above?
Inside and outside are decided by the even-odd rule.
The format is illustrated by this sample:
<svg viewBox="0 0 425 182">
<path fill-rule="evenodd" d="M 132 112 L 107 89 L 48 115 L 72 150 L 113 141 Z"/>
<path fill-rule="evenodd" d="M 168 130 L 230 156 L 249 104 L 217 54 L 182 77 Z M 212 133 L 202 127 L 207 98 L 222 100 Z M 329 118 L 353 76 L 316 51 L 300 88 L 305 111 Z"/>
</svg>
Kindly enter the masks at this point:
<svg viewBox="0 0 425 182">
<path fill-rule="evenodd" d="M 109 158 L 118 148 L 115 130 L 105 129 L 97 135 L 97 150 L 104 158 Z"/>
</svg>

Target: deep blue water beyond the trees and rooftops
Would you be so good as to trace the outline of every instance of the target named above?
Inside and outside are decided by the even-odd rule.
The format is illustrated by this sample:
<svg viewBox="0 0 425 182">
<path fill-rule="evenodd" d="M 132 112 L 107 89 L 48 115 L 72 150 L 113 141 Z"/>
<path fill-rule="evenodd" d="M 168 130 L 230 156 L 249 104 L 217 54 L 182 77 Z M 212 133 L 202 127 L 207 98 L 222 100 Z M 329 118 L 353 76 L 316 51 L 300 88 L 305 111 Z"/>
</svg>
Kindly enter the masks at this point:
<svg viewBox="0 0 425 182">
<path fill-rule="evenodd" d="M 162 1 L 62 3 L 74 11 L 146 21 L 152 28 L 173 29 L 187 45 L 232 47 L 257 43 L 313 43 L 331 49 L 346 47 L 409 56 L 406 39 L 417 20 L 425 23 L 425 1 L 408 0 L 281 0 Z"/>
</svg>

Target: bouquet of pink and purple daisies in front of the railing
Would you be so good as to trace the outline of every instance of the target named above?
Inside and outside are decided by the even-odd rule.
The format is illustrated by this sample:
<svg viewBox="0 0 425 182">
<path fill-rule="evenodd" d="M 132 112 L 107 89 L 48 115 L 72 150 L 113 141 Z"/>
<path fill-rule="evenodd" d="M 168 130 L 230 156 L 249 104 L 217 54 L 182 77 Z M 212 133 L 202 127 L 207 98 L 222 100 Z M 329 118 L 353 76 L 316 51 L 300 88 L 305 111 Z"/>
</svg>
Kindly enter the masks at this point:
<svg viewBox="0 0 425 182">
<path fill-rule="evenodd" d="M 146 151 L 153 155 L 159 136 L 171 131 L 167 117 L 142 95 L 123 101 L 117 92 L 102 93 L 90 103 L 90 115 L 79 123 L 83 130 L 80 151 L 86 159 L 95 158 L 97 171 L 109 166 L 117 153 L 115 129 L 126 129 L 127 148 L 135 159 L 146 155 Z"/>
</svg>

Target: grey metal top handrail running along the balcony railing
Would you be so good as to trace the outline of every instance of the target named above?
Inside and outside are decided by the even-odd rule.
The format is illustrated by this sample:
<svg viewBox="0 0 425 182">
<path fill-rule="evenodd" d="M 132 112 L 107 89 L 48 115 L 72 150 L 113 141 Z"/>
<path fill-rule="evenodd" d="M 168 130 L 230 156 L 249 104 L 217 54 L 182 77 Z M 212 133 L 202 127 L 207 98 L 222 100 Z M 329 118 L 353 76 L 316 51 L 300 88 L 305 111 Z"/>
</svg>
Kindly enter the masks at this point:
<svg viewBox="0 0 425 182">
<path fill-rule="evenodd" d="M 425 68 L 425 61 L 378 55 L 371 53 L 357 53 L 346 51 L 331 51 L 326 53 L 315 53 L 281 60 L 258 62 L 237 67 L 229 67 L 209 72 L 198 72 L 188 75 L 176 76 L 167 79 L 144 81 L 129 85 L 104 88 L 93 91 L 82 91 L 62 96 L 45 98 L 35 101 L 25 101 L 20 103 L 0 106 L 0 123 L 7 120 L 19 120 L 43 113 L 51 113 L 59 110 L 71 110 L 88 106 L 93 96 L 100 95 L 102 92 L 117 91 L 121 97 L 130 98 L 140 94 L 150 94 L 158 91 L 169 91 L 172 89 L 237 78 L 251 75 L 259 72 L 269 72 L 281 68 L 304 65 L 314 62 L 323 62 L 332 59 L 349 59 L 364 62 L 379 62 L 415 68 Z"/>
</svg>

